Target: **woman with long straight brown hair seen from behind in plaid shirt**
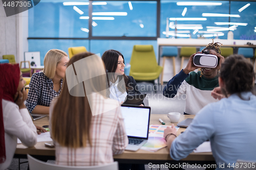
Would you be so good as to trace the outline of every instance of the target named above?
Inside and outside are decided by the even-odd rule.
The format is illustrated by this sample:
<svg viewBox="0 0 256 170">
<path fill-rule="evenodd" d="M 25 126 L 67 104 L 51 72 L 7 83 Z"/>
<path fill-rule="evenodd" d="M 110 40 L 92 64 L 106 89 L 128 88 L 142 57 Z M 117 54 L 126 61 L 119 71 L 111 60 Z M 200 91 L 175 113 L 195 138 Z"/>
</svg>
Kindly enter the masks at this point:
<svg viewBox="0 0 256 170">
<path fill-rule="evenodd" d="M 100 57 L 81 53 L 71 58 L 63 88 L 50 106 L 56 163 L 93 166 L 113 162 L 128 139 L 117 101 L 106 98 Z"/>
</svg>

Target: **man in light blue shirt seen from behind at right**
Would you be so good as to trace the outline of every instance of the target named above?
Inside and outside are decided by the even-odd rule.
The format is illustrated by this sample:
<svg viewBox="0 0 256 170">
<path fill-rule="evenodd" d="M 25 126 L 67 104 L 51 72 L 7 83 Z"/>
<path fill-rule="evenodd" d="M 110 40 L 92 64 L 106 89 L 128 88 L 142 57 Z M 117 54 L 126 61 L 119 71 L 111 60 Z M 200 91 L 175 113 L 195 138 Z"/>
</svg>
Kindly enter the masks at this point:
<svg viewBox="0 0 256 170">
<path fill-rule="evenodd" d="M 254 79 L 253 66 L 248 60 L 239 55 L 228 57 L 221 65 L 220 87 L 211 93 L 220 101 L 200 110 L 177 138 L 174 125 L 164 131 L 170 157 L 185 158 L 209 139 L 217 169 L 233 169 L 238 159 L 256 161 Z"/>
</svg>

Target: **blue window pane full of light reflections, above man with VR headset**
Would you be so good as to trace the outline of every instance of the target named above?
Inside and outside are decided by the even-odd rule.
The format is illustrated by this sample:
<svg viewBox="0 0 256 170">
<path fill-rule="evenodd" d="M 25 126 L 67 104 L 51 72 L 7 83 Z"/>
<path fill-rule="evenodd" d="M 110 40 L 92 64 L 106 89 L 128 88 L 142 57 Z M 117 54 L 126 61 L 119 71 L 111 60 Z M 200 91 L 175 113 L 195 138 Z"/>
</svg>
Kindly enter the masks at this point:
<svg viewBox="0 0 256 170">
<path fill-rule="evenodd" d="M 200 3 L 207 2 L 207 3 L 222 3 L 220 6 L 178 6 L 177 2 L 195 2 L 195 1 L 166 1 L 161 0 L 161 20 L 160 20 L 160 37 L 165 38 L 165 34 L 163 32 L 166 31 L 166 18 L 206 18 L 206 20 L 177 20 L 177 23 L 172 20 L 168 20 L 170 23 L 169 34 L 175 33 L 175 24 L 180 25 L 182 29 L 177 29 L 177 38 L 198 38 L 205 36 L 205 38 L 213 38 L 209 34 L 219 34 L 218 38 L 220 39 L 227 39 L 227 32 L 228 31 L 211 31 L 207 33 L 207 29 L 209 27 L 220 27 L 215 24 L 215 22 L 228 22 L 228 17 L 211 17 L 211 16 L 202 16 L 203 13 L 220 13 L 220 14 L 229 14 L 229 2 L 228 1 L 199 1 Z M 184 16 L 182 16 L 182 12 L 184 9 L 187 9 Z M 183 26 L 181 26 L 183 25 Z M 187 29 L 185 27 L 194 27 L 194 29 Z M 192 25 L 192 26 L 188 26 Z M 200 25 L 202 29 L 198 29 L 198 32 L 193 25 Z M 196 26 L 198 27 L 198 26 Z M 228 27 L 228 26 L 223 26 Z M 178 27 L 177 27 L 178 28 Z M 211 28 L 210 28 L 211 29 Z M 195 31 L 195 32 L 194 32 Z M 224 35 L 223 35 L 224 34 Z M 207 37 L 211 36 L 211 37 Z M 170 36 L 174 37 L 174 36 Z"/>
</svg>

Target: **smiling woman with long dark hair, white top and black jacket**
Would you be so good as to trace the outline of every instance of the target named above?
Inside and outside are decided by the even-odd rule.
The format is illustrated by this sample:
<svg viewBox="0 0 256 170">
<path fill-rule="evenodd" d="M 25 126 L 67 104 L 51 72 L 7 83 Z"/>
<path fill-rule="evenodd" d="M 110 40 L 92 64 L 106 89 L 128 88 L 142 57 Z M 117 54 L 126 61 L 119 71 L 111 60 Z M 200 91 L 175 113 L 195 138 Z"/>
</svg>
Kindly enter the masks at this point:
<svg viewBox="0 0 256 170">
<path fill-rule="evenodd" d="M 122 103 L 127 94 L 140 94 L 134 78 L 124 74 L 124 58 L 120 52 L 116 50 L 105 51 L 101 59 L 105 64 L 108 75 L 108 84 L 110 87 L 109 97 L 111 99 Z"/>
</svg>

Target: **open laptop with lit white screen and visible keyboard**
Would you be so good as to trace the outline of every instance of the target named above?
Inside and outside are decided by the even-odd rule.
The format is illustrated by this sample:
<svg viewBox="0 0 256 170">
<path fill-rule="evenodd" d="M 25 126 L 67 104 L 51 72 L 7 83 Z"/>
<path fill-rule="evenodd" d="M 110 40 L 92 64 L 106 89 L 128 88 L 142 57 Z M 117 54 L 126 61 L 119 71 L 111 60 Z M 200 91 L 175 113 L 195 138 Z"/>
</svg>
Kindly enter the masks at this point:
<svg viewBox="0 0 256 170">
<path fill-rule="evenodd" d="M 137 151 L 147 142 L 150 127 L 150 107 L 125 105 L 121 107 L 124 126 L 129 139 L 125 148 L 128 151 Z"/>
</svg>

